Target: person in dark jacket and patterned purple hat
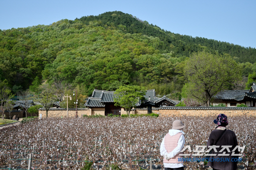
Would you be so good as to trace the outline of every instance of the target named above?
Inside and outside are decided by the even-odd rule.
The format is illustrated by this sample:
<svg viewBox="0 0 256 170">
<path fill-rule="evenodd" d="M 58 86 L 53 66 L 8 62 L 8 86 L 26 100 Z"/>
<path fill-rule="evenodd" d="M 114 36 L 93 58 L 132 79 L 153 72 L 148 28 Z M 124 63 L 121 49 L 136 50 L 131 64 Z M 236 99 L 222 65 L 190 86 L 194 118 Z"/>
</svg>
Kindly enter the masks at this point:
<svg viewBox="0 0 256 170">
<path fill-rule="evenodd" d="M 215 153 L 214 150 L 212 149 L 212 154 L 217 155 L 210 156 L 210 161 L 208 161 L 207 165 L 212 167 L 213 170 L 236 170 L 237 159 L 234 158 L 238 158 L 238 156 L 231 156 L 233 149 L 238 145 L 236 134 L 231 130 L 227 130 L 226 125 L 228 125 L 229 122 L 227 121 L 226 115 L 219 114 L 217 119 L 214 120 L 214 123 L 218 126 L 216 127 L 215 130 L 211 132 L 207 142 L 207 148 L 213 145 L 219 147 L 216 148 L 216 150 L 218 151 L 217 153 Z M 223 149 L 222 146 L 231 147 L 229 147 L 229 150 L 225 148 L 225 150 L 219 152 Z M 227 154 L 229 156 L 227 156 Z M 236 149 L 235 154 L 238 154 L 238 149 Z"/>
</svg>

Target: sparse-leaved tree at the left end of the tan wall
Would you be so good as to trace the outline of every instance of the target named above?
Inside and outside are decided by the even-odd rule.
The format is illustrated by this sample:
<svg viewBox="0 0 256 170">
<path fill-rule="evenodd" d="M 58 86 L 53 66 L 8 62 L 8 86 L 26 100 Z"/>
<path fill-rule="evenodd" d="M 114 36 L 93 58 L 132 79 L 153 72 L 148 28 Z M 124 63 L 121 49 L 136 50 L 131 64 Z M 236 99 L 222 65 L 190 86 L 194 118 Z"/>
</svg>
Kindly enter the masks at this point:
<svg viewBox="0 0 256 170">
<path fill-rule="evenodd" d="M 52 107 L 54 101 L 57 100 L 55 91 L 49 84 L 44 84 L 38 87 L 38 93 L 35 95 L 35 100 L 38 101 L 46 110 L 46 117 L 48 117 L 48 111 Z"/>
</svg>

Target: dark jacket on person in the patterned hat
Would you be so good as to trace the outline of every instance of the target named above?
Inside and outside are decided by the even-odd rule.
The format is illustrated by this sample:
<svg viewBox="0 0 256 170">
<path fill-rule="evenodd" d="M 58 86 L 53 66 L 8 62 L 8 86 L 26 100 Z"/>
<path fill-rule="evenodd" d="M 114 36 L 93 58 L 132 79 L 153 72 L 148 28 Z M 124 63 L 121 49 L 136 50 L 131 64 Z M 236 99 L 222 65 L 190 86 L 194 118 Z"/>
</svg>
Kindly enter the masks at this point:
<svg viewBox="0 0 256 170">
<path fill-rule="evenodd" d="M 214 145 L 214 143 L 217 141 L 217 139 L 219 138 L 219 136 L 222 134 L 223 130 L 214 130 L 211 132 L 208 142 L 207 142 L 207 147 L 209 148 L 209 146 Z M 221 136 L 221 138 L 219 139 L 219 141 L 217 142 L 217 144 L 215 144 L 216 146 L 220 146 L 219 148 L 217 148 L 216 150 L 218 151 L 218 153 L 214 153 L 214 151 L 212 150 L 212 154 L 217 154 L 216 156 L 211 156 L 210 158 L 222 158 L 222 160 L 227 160 L 227 158 L 229 158 L 229 162 L 228 161 L 223 161 L 223 162 L 212 162 L 208 161 L 207 165 L 214 168 L 214 169 L 218 169 L 218 170 L 236 170 L 237 169 L 237 162 L 231 162 L 232 158 L 238 158 L 238 156 L 231 156 L 232 154 L 232 150 L 238 145 L 237 144 L 237 138 L 236 138 L 236 134 L 231 131 L 231 130 L 226 130 L 225 133 Z M 226 154 L 230 154 L 229 156 L 218 156 L 218 154 L 223 154 L 223 152 L 219 152 L 223 145 L 230 145 L 232 146 L 230 149 L 230 152 L 228 152 L 226 149 L 223 152 L 226 152 Z M 238 149 L 236 149 L 235 154 L 238 154 Z M 226 158 L 226 159 L 225 159 Z"/>
</svg>

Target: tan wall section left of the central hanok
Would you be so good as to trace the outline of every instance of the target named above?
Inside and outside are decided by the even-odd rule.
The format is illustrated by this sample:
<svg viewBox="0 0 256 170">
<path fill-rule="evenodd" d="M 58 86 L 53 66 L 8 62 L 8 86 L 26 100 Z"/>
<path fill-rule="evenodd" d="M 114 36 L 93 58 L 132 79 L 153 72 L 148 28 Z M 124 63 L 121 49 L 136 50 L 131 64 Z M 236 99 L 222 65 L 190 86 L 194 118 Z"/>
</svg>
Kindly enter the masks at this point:
<svg viewBox="0 0 256 170">
<path fill-rule="evenodd" d="M 45 109 L 39 109 L 39 114 L 42 114 L 42 117 L 46 117 Z M 89 108 L 78 108 L 78 116 L 81 117 L 82 115 L 91 115 L 92 111 Z M 76 109 L 71 108 L 68 109 L 68 117 L 75 117 Z M 48 117 L 67 117 L 67 109 L 65 108 L 51 108 L 48 111 Z"/>
</svg>

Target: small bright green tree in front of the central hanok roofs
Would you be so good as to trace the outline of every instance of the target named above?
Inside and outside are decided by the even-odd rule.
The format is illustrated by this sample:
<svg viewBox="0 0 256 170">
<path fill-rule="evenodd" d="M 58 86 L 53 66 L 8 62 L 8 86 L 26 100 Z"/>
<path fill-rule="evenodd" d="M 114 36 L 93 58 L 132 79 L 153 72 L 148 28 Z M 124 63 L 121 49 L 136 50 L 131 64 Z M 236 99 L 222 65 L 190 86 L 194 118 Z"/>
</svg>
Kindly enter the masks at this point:
<svg viewBox="0 0 256 170">
<path fill-rule="evenodd" d="M 120 86 L 114 92 L 114 105 L 121 106 L 125 109 L 127 115 L 130 115 L 131 109 L 136 107 L 136 104 L 144 98 L 145 94 L 146 90 L 141 86 Z"/>
</svg>

